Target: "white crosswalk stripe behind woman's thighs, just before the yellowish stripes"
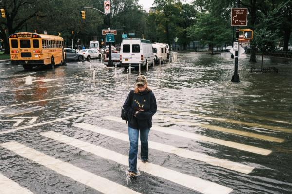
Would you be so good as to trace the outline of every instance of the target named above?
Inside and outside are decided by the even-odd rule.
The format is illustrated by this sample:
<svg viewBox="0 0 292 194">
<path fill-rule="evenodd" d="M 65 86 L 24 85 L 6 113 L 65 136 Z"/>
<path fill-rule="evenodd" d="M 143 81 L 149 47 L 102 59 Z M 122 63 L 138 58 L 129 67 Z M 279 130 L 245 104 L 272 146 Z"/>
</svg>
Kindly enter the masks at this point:
<svg viewBox="0 0 292 194">
<path fill-rule="evenodd" d="M 107 119 L 107 120 L 111 120 L 111 121 L 125 123 L 125 121 L 119 117 L 107 116 L 107 117 L 103 117 L 103 118 Z M 259 147 L 255 147 L 255 146 L 251 146 L 251 145 L 245 145 L 245 144 L 236 143 L 236 142 L 232 142 L 232 141 L 220 140 L 220 139 L 216 139 L 216 138 L 203 136 L 200 134 L 189 133 L 189 132 L 185 132 L 185 131 L 181 131 L 181 130 L 171 129 L 169 127 L 166 128 L 166 127 L 152 125 L 151 130 L 159 131 L 162 133 L 168 133 L 168 134 L 172 134 L 172 135 L 177 135 L 177 136 L 193 139 L 196 141 L 200 140 L 200 141 L 207 141 L 207 142 L 211 142 L 211 143 L 216 143 L 219 145 L 223 145 L 223 146 L 227 146 L 227 147 L 231 147 L 231 148 L 235 148 L 235 149 L 239 149 L 239 150 L 243 150 L 243 151 L 247 151 L 247 152 L 252 152 L 252 153 L 256 153 L 256 154 L 260 154 L 260 155 L 268 155 L 272 152 L 271 150 L 267 150 L 267 149 L 263 149 L 263 148 L 259 148 Z"/>
</svg>

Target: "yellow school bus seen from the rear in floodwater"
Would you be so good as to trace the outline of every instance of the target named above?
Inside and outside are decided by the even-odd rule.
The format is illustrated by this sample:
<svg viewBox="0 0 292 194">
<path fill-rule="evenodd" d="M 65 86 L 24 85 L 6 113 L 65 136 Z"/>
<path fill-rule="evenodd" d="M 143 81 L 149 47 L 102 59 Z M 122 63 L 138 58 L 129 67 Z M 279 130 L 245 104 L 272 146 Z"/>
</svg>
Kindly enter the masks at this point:
<svg viewBox="0 0 292 194">
<path fill-rule="evenodd" d="M 22 65 L 26 70 L 66 63 L 62 37 L 19 32 L 9 36 L 9 44 L 11 63 Z"/>
</svg>

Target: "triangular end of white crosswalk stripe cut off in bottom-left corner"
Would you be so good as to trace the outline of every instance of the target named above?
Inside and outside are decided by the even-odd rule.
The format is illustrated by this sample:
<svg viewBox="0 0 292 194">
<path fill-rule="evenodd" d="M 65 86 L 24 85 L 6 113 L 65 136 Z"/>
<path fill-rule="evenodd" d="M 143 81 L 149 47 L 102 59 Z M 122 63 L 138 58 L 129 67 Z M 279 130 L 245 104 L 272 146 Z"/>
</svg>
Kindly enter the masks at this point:
<svg viewBox="0 0 292 194">
<path fill-rule="evenodd" d="M 28 189 L 0 174 L 0 194 L 33 194 Z"/>
</svg>

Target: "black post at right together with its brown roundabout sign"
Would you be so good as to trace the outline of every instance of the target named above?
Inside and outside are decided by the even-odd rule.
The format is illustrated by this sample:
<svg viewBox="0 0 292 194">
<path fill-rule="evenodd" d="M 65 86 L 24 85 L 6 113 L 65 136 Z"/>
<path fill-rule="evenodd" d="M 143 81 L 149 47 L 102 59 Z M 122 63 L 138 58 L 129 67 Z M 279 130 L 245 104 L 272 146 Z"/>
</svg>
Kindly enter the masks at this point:
<svg viewBox="0 0 292 194">
<path fill-rule="evenodd" d="M 239 0 L 237 6 L 239 6 Z M 247 8 L 232 8 L 231 9 L 231 26 L 246 26 L 247 25 Z M 234 57 L 234 75 L 232 82 L 240 82 L 238 74 L 238 50 L 239 50 L 239 28 L 236 29 L 235 41 L 233 42 Z"/>
</svg>

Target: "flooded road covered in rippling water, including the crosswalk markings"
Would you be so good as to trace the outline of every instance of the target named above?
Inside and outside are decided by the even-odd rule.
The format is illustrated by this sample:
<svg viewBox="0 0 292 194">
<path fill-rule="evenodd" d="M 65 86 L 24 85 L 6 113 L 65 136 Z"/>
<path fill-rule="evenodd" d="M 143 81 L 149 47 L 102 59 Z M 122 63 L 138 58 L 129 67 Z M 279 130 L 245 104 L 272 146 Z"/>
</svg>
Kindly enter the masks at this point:
<svg viewBox="0 0 292 194">
<path fill-rule="evenodd" d="M 242 55 L 241 82 L 232 83 L 230 54 L 177 59 L 141 72 L 158 111 L 150 162 L 139 163 L 141 176 L 128 183 L 120 112 L 138 71 L 128 86 L 128 72 L 98 60 L 33 71 L 0 64 L 4 193 L 291 194 L 292 60 L 265 57 L 264 66 L 279 73 L 255 74 Z"/>
</svg>

